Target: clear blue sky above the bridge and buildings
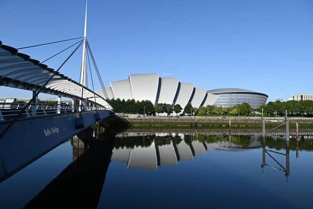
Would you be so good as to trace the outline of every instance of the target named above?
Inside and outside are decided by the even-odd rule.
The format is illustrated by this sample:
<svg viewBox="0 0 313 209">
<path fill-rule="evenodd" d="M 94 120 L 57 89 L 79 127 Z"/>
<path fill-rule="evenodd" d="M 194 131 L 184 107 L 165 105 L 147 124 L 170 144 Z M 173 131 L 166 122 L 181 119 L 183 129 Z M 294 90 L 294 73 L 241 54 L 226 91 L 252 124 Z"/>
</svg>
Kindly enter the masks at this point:
<svg viewBox="0 0 313 209">
<path fill-rule="evenodd" d="M 89 0 L 88 5 L 87 37 L 105 86 L 128 74 L 157 72 L 207 90 L 259 91 L 269 100 L 280 97 L 279 89 L 283 99 L 313 93 L 312 0 Z M 0 40 L 18 48 L 80 37 L 84 12 L 85 0 L 2 0 Z M 44 60 L 69 45 L 21 52 Z M 78 52 L 61 70 L 77 81 L 82 49 Z M 47 64 L 57 69 L 65 57 Z M 0 97 L 13 94 L 30 95 L 0 88 Z"/>
</svg>

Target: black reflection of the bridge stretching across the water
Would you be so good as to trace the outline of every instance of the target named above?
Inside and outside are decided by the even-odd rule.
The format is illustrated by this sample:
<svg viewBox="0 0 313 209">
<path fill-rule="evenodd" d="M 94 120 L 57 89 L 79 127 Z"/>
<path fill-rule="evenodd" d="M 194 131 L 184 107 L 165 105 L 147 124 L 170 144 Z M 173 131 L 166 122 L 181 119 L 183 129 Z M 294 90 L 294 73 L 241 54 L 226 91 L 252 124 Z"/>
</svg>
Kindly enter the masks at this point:
<svg viewBox="0 0 313 209">
<path fill-rule="evenodd" d="M 73 137 L 73 162 L 24 208 L 97 208 L 111 162 L 115 134 L 127 125 L 122 118 L 110 117 L 107 128 L 93 126 Z"/>
</svg>

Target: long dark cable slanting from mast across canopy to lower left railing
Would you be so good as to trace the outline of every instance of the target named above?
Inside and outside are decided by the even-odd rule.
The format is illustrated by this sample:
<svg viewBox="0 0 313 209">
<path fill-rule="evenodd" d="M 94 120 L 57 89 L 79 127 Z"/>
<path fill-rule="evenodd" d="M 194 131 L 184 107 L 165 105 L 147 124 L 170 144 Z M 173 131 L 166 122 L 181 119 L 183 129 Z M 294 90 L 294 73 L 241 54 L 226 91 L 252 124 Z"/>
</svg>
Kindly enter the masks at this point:
<svg viewBox="0 0 313 209">
<path fill-rule="evenodd" d="M 83 43 L 83 42 L 82 42 Z M 73 52 L 67 57 L 67 59 L 62 63 L 62 65 L 58 68 L 58 70 L 55 70 L 50 78 L 45 82 L 45 84 L 36 92 L 36 94 L 33 96 L 32 99 L 29 100 L 29 102 L 24 106 L 24 108 L 20 111 L 20 113 L 13 118 L 13 120 L 9 123 L 8 126 L 5 127 L 5 129 L 0 134 L 0 139 L 4 136 L 4 134 L 9 130 L 9 128 L 15 123 L 15 121 L 22 115 L 22 113 L 29 107 L 29 105 L 37 98 L 38 94 L 45 88 L 45 86 L 49 83 L 49 81 L 53 78 L 55 74 L 64 66 L 64 64 L 67 62 L 67 60 L 77 51 L 77 49 L 82 45 L 80 43 Z"/>
</svg>

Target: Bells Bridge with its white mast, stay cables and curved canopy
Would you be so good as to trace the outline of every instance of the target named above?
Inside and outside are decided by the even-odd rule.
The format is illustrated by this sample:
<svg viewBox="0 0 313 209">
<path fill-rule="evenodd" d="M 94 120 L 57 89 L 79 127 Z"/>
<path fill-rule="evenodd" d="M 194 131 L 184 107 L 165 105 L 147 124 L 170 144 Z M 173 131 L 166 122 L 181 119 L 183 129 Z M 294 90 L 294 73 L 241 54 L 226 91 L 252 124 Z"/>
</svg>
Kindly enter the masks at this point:
<svg viewBox="0 0 313 209">
<path fill-rule="evenodd" d="M 84 37 L 22 48 L 7 46 L 0 41 L 0 86 L 32 91 L 33 94 L 27 103 L 8 101 L 0 104 L 0 182 L 70 137 L 114 115 L 106 101 L 105 90 L 102 95 L 94 91 L 90 61 L 101 87 L 104 85 L 87 40 L 86 28 L 87 3 Z M 42 62 L 19 51 L 77 39 L 79 41 L 75 44 Z M 77 82 L 60 73 L 60 70 L 80 46 L 83 46 L 83 59 L 80 82 Z M 71 47 L 74 50 L 57 70 L 43 64 Z M 88 88 L 88 70 L 92 90 Z M 57 103 L 39 102 L 39 93 L 56 95 Z M 62 97 L 72 99 L 71 104 L 62 103 Z"/>
</svg>

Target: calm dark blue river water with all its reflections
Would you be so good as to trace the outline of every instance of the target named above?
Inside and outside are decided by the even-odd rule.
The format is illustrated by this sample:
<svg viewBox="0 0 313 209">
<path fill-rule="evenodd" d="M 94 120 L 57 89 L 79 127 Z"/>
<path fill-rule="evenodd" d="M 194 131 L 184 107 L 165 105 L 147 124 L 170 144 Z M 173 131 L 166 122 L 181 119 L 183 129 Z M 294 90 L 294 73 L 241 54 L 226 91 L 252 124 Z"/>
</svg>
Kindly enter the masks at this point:
<svg viewBox="0 0 313 209">
<path fill-rule="evenodd" d="M 298 140 L 74 137 L 0 183 L 0 208 L 312 208 L 313 136 Z"/>
</svg>

